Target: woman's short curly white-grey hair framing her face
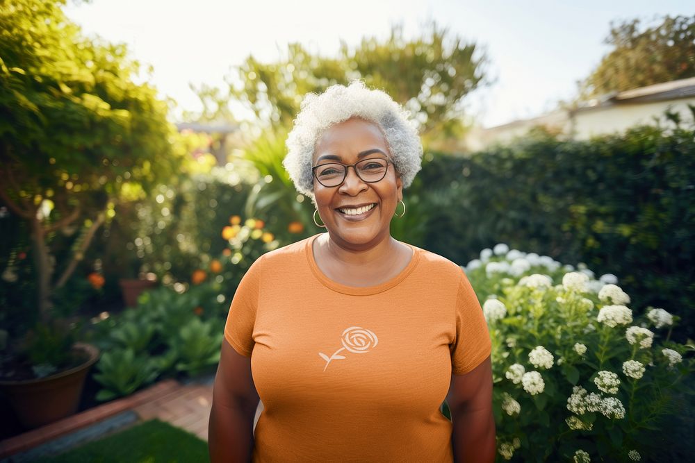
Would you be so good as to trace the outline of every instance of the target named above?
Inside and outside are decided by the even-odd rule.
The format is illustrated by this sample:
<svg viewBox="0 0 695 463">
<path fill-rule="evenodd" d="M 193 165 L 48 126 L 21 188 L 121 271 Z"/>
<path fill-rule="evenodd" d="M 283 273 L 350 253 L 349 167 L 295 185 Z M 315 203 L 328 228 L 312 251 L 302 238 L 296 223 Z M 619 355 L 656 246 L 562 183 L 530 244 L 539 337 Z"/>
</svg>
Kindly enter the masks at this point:
<svg viewBox="0 0 695 463">
<path fill-rule="evenodd" d="M 381 90 L 370 90 L 362 81 L 352 81 L 347 87 L 332 85 L 322 94 L 307 94 L 302 101 L 282 162 L 298 192 L 313 200 L 311 164 L 316 142 L 327 128 L 352 117 L 379 126 L 403 187 L 413 183 L 421 169 L 423 145 L 409 113 Z"/>
</svg>

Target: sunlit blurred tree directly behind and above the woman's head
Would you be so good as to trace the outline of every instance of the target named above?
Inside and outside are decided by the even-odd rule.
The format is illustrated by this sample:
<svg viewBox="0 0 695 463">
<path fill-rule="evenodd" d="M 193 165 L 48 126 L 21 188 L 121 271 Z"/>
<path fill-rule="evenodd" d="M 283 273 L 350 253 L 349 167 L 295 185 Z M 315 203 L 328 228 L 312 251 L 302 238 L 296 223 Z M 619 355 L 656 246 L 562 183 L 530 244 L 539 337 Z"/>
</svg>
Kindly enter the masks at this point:
<svg viewBox="0 0 695 463">
<path fill-rule="evenodd" d="M 288 127 L 304 94 L 363 78 L 406 106 L 423 134 L 450 132 L 461 124 L 466 95 L 484 84 L 485 64 L 475 43 L 462 42 L 446 28 L 432 23 L 423 35 L 407 40 L 402 27 L 395 26 L 385 41 L 366 37 L 354 48 L 343 42 L 336 58 L 310 53 L 297 43 L 289 44 L 286 58 L 276 62 L 249 56 L 237 69 L 236 83 L 227 76 L 226 101 L 210 87 L 201 87 L 198 94 L 208 108 L 208 119 L 210 114 L 224 115 L 224 107 L 238 101 L 261 125 Z"/>
</svg>

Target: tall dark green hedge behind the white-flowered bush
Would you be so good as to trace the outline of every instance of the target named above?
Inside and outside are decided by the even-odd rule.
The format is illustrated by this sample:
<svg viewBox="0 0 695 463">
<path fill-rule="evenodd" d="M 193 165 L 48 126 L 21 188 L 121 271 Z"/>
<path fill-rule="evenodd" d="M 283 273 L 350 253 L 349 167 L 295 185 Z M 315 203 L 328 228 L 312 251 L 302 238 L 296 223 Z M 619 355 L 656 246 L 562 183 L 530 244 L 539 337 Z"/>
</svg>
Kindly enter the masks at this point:
<svg viewBox="0 0 695 463">
<path fill-rule="evenodd" d="M 505 242 L 585 262 L 619 276 L 635 307 L 680 315 L 676 335 L 693 337 L 694 130 L 644 126 L 581 142 L 537 131 L 469 158 L 435 155 L 406 201 L 429 203 L 427 249 L 464 264 Z"/>
</svg>

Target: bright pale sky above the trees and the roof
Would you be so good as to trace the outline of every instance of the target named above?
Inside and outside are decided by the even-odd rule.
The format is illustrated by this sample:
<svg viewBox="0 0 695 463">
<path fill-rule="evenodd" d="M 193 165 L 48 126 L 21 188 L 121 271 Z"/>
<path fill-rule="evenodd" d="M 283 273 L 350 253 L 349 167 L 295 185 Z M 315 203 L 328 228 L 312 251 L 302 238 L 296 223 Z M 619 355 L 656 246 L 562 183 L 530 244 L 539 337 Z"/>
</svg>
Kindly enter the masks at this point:
<svg viewBox="0 0 695 463">
<path fill-rule="evenodd" d="M 190 84 L 224 86 L 249 55 L 277 60 L 286 45 L 335 55 L 341 40 L 386 38 L 401 24 L 416 37 L 434 20 L 484 49 L 490 84 L 466 96 L 477 124 L 498 126 L 553 110 L 610 50 L 611 22 L 693 15 L 683 0 L 91 0 L 68 3 L 67 16 L 88 35 L 128 45 L 152 65 L 145 80 L 181 110 L 202 108 Z M 236 110 L 235 110 L 236 111 Z M 236 112 L 238 117 L 245 117 Z"/>
</svg>

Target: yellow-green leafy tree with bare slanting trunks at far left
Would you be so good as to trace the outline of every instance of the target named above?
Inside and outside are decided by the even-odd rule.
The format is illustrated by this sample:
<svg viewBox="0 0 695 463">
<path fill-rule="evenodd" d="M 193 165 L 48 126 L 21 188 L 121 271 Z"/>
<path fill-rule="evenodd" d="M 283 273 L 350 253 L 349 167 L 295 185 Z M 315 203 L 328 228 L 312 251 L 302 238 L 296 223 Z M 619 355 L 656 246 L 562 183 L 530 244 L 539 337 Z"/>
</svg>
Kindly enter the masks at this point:
<svg viewBox="0 0 695 463">
<path fill-rule="evenodd" d="M 31 230 L 43 321 L 115 206 L 172 176 L 183 157 L 166 104 L 132 81 L 138 62 L 122 45 L 83 37 L 64 4 L 0 3 L 0 201 Z"/>
</svg>

